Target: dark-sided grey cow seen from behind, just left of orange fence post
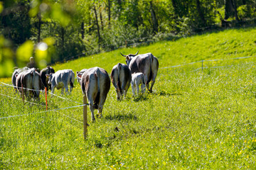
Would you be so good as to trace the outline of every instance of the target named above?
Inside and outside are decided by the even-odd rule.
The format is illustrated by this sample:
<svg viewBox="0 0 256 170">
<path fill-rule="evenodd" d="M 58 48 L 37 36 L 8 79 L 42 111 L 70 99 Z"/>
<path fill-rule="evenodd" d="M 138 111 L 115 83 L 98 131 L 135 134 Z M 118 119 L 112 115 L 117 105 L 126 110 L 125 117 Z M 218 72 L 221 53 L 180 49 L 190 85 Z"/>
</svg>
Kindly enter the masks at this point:
<svg viewBox="0 0 256 170">
<path fill-rule="evenodd" d="M 38 98 L 43 83 L 40 74 L 35 68 L 26 69 L 20 74 L 16 74 L 16 89 L 22 94 L 24 92 L 26 98 Z"/>
</svg>

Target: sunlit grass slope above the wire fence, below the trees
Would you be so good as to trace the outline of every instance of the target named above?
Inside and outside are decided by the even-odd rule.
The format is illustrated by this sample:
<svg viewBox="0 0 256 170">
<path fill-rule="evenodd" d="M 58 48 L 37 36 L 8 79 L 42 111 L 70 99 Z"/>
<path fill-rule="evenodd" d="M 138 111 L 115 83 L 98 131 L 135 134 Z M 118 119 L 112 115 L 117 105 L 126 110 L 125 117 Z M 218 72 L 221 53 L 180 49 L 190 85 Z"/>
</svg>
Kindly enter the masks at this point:
<svg viewBox="0 0 256 170">
<path fill-rule="evenodd" d="M 82 57 L 65 64 L 56 64 L 55 69 L 69 68 L 80 70 L 89 67 L 102 67 L 111 72 L 114 64 L 125 63 L 122 54 L 151 52 L 159 58 L 159 67 L 169 67 L 200 60 L 228 59 L 254 56 L 256 54 L 256 29 L 240 28 L 216 33 L 193 35 L 174 41 L 156 42 L 152 45 L 129 47 L 105 52 L 90 57 Z"/>
</svg>

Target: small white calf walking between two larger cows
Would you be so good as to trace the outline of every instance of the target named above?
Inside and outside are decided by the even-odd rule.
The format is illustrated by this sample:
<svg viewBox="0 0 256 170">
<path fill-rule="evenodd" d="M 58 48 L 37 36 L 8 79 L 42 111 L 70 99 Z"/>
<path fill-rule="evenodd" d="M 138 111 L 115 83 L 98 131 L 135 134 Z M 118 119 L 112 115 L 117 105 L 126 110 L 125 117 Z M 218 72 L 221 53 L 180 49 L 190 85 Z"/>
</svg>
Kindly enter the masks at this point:
<svg viewBox="0 0 256 170">
<path fill-rule="evenodd" d="M 131 84 L 132 84 L 133 96 L 136 96 L 136 94 L 135 94 L 136 89 L 137 89 L 137 94 L 139 94 L 139 84 L 142 84 L 141 89 L 142 89 L 142 94 L 143 94 L 146 89 L 144 74 L 142 72 L 132 74 Z"/>
</svg>

